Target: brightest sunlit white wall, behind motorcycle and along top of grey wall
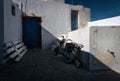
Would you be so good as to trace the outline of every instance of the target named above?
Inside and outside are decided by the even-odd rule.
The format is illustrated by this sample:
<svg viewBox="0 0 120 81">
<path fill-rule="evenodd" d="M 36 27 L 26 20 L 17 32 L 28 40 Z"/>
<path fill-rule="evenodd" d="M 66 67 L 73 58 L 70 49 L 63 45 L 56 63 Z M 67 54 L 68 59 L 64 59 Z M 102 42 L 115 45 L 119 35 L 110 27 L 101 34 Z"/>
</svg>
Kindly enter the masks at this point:
<svg viewBox="0 0 120 81">
<path fill-rule="evenodd" d="M 119 26 L 120 16 L 89 22 L 89 26 L 68 33 L 68 38 L 84 45 L 83 50 L 90 52 L 90 28 L 92 26 Z"/>
</svg>

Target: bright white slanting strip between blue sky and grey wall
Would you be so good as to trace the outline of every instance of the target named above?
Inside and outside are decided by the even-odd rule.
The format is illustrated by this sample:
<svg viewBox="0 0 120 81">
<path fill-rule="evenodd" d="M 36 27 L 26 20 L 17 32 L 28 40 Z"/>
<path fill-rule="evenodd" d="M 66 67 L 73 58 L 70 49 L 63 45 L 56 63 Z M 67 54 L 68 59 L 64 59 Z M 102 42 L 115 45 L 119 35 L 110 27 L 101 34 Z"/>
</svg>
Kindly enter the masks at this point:
<svg viewBox="0 0 120 81">
<path fill-rule="evenodd" d="M 89 26 L 120 26 L 120 16 L 89 22 Z"/>
</svg>

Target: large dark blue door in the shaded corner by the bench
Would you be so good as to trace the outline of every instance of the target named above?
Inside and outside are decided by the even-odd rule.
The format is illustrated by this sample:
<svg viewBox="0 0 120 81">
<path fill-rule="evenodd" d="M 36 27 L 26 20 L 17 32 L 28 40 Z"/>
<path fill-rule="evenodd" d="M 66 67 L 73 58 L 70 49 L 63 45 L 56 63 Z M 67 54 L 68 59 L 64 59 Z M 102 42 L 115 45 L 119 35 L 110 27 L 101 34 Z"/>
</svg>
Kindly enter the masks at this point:
<svg viewBox="0 0 120 81">
<path fill-rule="evenodd" d="M 28 48 L 41 48 L 40 18 L 23 17 L 23 41 Z"/>
</svg>

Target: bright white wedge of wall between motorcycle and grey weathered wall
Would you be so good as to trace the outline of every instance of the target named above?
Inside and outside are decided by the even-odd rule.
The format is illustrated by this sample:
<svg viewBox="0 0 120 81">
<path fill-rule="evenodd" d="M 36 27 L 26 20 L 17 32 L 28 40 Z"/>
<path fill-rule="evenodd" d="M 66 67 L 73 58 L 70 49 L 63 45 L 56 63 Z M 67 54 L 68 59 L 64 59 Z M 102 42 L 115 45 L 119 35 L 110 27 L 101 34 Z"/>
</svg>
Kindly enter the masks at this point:
<svg viewBox="0 0 120 81">
<path fill-rule="evenodd" d="M 68 33 L 68 39 L 84 45 L 83 51 L 90 52 L 90 27 L 79 28 Z"/>
</svg>

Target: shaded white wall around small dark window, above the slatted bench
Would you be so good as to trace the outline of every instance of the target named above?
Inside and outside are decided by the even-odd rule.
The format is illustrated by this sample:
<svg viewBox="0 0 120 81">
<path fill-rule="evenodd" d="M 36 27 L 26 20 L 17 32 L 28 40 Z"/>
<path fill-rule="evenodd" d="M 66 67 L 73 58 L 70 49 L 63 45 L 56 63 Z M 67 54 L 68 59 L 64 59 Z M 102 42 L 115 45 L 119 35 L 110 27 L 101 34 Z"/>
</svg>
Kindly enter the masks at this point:
<svg viewBox="0 0 120 81">
<path fill-rule="evenodd" d="M 15 16 L 11 13 L 12 5 Z M 4 0 L 4 42 L 15 40 L 22 40 L 21 11 L 11 0 Z"/>
</svg>

